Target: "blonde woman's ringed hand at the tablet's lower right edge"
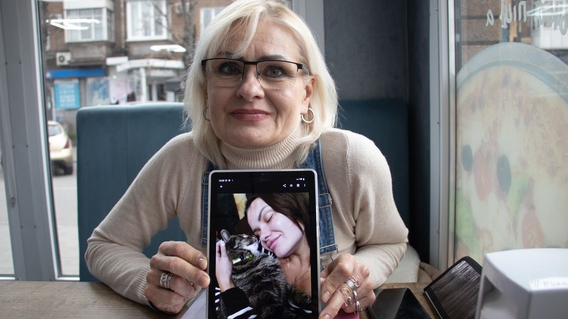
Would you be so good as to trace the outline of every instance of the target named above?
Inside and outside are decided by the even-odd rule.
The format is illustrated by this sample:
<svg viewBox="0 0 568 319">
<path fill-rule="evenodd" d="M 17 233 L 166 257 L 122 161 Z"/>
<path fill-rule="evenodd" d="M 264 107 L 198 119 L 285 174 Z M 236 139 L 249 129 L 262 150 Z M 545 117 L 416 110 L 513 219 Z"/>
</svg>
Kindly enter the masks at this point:
<svg viewBox="0 0 568 319">
<path fill-rule="evenodd" d="M 343 254 L 331 262 L 321 271 L 321 301 L 327 303 L 321 311 L 319 318 L 331 319 L 337 315 L 339 309 L 345 312 L 361 311 L 369 307 L 375 301 L 373 292 L 373 282 L 369 278 L 369 268 L 358 263 L 357 259 L 351 254 Z M 346 284 L 351 280 L 355 287 L 355 294 Z M 356 301 L 359 301 L 357 307 Z"/>
</svg>

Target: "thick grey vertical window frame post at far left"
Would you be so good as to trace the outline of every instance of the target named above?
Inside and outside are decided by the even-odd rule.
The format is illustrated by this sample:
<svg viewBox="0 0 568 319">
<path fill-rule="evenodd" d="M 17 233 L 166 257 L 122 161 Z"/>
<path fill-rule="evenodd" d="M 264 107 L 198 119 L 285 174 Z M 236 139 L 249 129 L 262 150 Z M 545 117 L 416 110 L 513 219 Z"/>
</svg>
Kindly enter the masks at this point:
<svg viewBox="0 0 568 319">
<path fill-rule="evenodd" d="M 6 152 L 2 156 L 6 159 L 6 198 L 10 199 L 12 279 L 61 279 L 57 272 L 37 2 L 0 0 L 0 16 L 0 138 Z"/>
</svg>

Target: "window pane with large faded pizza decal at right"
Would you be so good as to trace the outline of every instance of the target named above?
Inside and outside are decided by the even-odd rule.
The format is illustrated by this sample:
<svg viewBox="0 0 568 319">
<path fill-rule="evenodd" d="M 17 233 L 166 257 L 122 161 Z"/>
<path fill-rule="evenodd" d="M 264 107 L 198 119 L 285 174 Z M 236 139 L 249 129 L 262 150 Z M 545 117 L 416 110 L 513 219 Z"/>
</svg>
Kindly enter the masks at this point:
<svg viewBox="0 0 568 319">
<path fill-rule="evenodd" d="M 453 254 L 568 247 L 565 1 L 456 1 Z M 451 263 L 451 262 L 450 262 Z"/>
</svg>

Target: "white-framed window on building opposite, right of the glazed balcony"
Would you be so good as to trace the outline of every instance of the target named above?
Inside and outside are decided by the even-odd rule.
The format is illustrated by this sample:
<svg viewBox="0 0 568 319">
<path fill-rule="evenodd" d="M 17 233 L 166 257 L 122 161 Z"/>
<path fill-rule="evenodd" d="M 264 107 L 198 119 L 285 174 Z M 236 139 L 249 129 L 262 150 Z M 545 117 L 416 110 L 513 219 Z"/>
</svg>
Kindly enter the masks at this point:
<svg viewBox="0 0 568 319">
<path fill-rule="evenodd" d="M 162 40 L 168 38 L 165 0 L 129 1 L 126 6 L 128 40 Z"/>
</svg>

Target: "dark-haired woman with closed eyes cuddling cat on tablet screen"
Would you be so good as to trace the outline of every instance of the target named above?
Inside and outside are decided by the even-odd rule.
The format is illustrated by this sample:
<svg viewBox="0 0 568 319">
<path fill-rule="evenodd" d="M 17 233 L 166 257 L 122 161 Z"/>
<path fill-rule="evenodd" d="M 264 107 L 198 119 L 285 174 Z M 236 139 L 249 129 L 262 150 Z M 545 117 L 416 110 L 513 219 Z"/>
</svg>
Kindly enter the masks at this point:
<svg viewBox="0 0 568 319">
<path fill-rule="evenodd" d="M 254 236 L 260 241 L 262 251 L 277 258 L 286 280 L 289 293 L 287 309 L 294 317 L 311 317 L 310 244 L 305 229 L 310 223 L 308 197 L 305 193 L 269 193 L 248 196 L 245 218 Z M 257 309 L 249 307 L 242 293 L 229 291 L 239 289 L 232 281 L 233 264 L 225 250 L 225 242 L 216 245 L 216 279 L 220 299 L 231 309 L 232 318 L 249 318 Z M 299 296 L 301 295 L 301 296 Z"/>
</svg>

